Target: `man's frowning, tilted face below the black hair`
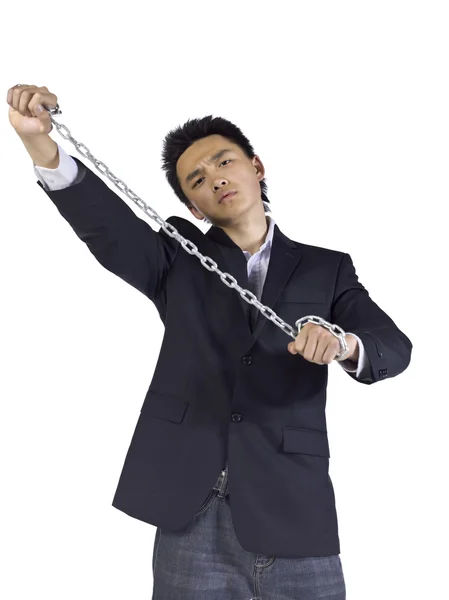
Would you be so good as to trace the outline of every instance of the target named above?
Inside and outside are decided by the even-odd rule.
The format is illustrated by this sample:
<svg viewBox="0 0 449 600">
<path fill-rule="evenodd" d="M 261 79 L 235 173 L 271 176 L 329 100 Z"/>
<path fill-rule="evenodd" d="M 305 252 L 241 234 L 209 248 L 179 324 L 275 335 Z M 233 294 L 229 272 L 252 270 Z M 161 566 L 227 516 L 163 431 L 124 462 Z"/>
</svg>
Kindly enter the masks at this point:
<svg viewBox="0 0 449 600">
<path fill-rule="evenodd" d="M 262 162 L 258 156 L 249 159 L 221 135 L 194 142 L 180 156 L 176 172 L 192 205 L 189 210 L 198 219 L 207 217 L 213 225 L 230 227 L 248 211 L 263 209 L 259 183 L 265 176 Z M 220 203 L 220 196 L 228 190 L 237 193 Z"/>
</svg>

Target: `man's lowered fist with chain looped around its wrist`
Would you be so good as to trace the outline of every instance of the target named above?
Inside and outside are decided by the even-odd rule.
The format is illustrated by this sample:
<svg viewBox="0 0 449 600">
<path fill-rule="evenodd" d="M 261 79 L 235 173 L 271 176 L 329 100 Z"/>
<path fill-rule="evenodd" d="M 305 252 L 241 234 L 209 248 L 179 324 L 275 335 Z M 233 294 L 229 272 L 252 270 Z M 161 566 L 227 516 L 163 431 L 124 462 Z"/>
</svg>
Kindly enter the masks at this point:
<svg viewBox="0 0 449 600">
<path fill-rule="evenodd" d="M 345 360 L 358 361 L 357 338 L 345 335 L 349 353 Z M 291 354 L 300 354 L 306 360 L 318 365 L 329 365 L 340 352 L 340 342 L 335 335 L 321 325 L 306 323 L 293 342 L 288 345 Z"/>
</svg>

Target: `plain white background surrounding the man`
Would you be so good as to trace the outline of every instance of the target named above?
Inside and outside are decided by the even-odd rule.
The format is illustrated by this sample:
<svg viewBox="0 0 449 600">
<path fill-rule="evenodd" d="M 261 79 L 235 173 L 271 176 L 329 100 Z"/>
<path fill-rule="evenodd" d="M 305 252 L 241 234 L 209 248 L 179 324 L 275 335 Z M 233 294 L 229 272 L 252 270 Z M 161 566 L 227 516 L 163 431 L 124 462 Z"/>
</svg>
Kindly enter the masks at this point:
<svg viewBox="0 0 449 600">
<path fill-rule="evenodd" d="M 264 162 L 280 229 L 351 255 L 414 347 L 403 374 L 371 386 L 329 367 L 347 598 L 446 597 L 445 4 L 1 9 L 2 598 L 151 597 L 156 528 L 111 502 L 163 336 L 36 184 L 8 120 L 17 83 L 47 86 L 75 138 L 163 218 L 204 231 L 165 180 L 162 140 L 190 117 L 230 119 Z"/>
</svg>

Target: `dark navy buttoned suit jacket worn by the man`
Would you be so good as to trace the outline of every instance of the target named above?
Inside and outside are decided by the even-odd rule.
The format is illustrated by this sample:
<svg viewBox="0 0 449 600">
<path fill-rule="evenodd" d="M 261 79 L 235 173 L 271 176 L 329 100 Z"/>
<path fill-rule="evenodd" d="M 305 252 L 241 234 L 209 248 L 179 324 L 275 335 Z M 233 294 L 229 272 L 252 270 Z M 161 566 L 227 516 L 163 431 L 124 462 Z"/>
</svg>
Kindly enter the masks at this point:
<svg viewBox="0 0 449 600">
<path fill-rule="evenodd" d="M 252 333 L 249 305 L 235 290 L 73 158 L 79 178 L 47 195 L 97 261 L 154 303 L 165 326 L 113 506 L 179 531 L 227 462 L 233 524 L 245 550 L 338 554 L 328 366 L 290 354 L 292 338 L 260 313 Z M 168 222 L 248 287 L 245 256 L 221 228 L 204 234 L 186 219 Z M 319 315 L 358 335 L 371 367 L 361 383 L 395 377 L 410 362 L 412 343 L 370 298 L 351 257 L 294 242 L 278 226 L 261 302 L 290 325 Z"/>
</svg>

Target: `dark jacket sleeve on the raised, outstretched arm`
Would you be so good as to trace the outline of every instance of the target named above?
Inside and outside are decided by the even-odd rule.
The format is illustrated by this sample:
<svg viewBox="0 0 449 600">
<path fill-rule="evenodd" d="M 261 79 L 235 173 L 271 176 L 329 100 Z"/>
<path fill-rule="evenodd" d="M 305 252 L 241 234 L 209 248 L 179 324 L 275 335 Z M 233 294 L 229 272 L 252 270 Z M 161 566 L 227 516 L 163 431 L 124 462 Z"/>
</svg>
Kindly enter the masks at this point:
<svg viewBox="0 0 449 600">
<path fill-rule="evenodd" d="M 150 300 L 162 289 L 179 242 L 162 227 L 158 232 L 138 217 L 106 183 L 77 157 L 75 181 L 59 190 L 44 190 L 97 261 Z M 170 217 L 178 229 L 179 217 Z"/>
</svg>

